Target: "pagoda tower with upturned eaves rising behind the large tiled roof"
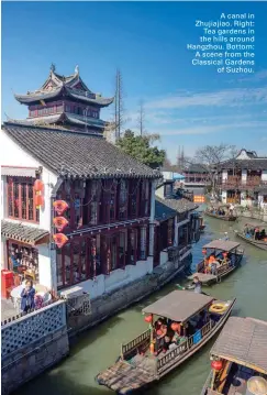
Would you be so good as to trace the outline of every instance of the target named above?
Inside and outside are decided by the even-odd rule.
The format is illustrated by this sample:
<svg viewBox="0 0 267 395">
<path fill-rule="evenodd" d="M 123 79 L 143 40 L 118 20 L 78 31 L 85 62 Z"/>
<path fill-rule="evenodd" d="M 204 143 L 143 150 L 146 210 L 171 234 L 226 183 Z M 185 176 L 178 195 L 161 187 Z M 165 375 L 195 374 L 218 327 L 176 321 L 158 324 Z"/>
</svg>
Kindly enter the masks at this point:
<svg viewBox="0 0 267 395">
<path fill-rule="evenodd" d="M 40 89 L 14 97 L 29 108 L 29 117 L 15 122 L 60 125 L 96 135 L 102 135 L 105 127 L 105 122 L 100 119 L 100 109 L 113 101 L 113 98 L 103 98 L 89 90 L 80 78 L 78 66 L 73 75 L 65 77 L 56 73 L 54 65 Z"/>
</svg>

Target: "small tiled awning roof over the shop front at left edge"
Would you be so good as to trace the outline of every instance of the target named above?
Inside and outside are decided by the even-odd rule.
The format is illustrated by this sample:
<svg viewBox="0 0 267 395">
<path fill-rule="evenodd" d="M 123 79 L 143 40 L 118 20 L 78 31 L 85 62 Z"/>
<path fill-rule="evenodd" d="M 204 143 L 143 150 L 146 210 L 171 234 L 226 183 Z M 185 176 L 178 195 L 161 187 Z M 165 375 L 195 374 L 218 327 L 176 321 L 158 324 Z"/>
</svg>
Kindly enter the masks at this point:
<svg viewBox="0 0 267 395">
<path fill-rule="evenodd" d="M 47 230 L 25 226 L 22 223 L 1 220 L 1 234 L 5 238 L 35 244 L 38 240 L 48 235 Z"/>
</svg>

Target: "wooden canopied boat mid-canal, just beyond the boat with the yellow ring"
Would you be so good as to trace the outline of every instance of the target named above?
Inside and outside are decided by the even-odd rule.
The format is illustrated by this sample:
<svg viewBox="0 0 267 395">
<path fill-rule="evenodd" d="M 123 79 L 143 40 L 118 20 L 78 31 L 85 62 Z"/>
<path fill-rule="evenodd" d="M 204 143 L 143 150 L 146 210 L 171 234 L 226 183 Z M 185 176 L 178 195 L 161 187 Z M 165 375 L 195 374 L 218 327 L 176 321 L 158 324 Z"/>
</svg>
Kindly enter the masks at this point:
<svg viewBox="0 0 267 395">
<path fill-rule="evenodd" d="M 213 240 L 203 246 L 202 252 L 204 259 L 197 265 L 197 272 L 188 278 L 192 279 L 197 275 L 204 285 L 221 282 L 223 277 L 240 266 L 244 255 L 244 249 L 241 248 L 241 244 L 230 240 Z M 205 273 L 205 262 L 212 254 L 216 260 L 221 260 L 221 264 L 215 268 L 214 274 Z"/>
</svg>

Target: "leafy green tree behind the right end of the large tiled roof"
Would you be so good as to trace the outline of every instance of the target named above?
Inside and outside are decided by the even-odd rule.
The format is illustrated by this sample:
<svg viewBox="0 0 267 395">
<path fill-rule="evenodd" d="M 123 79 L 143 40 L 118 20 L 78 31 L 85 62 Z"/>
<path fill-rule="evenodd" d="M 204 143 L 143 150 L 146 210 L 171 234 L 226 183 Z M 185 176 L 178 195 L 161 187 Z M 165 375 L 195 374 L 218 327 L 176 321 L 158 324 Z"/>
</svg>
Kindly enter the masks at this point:
<svg viewBox="0 0 267 395">
<path fill-rule="evenodd" d="M 116 146 L 138 162 L 152 168 L 157 168 L 163 165 L 166 156 L 164 150 L 159 150 L 154 145 L 155 141 L 158 140 L 158 134 L 134 135 L 134 132 L 127 129 L 116 142 Z"/>
</svg>

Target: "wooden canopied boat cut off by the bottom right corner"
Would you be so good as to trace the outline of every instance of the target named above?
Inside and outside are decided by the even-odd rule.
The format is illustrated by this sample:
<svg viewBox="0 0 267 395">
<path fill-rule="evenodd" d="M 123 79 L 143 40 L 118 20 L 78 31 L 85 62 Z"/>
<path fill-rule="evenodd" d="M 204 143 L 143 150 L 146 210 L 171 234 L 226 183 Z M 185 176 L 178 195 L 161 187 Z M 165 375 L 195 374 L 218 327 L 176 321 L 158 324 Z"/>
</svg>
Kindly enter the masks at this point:
<svg viewBox="0 0 267 395">
<path fill-rule="evenodd" d="M 231 317 L 210 354 L 212 371 L 201 395 L 267 394 L 267 322 Z"/>
</svg>

